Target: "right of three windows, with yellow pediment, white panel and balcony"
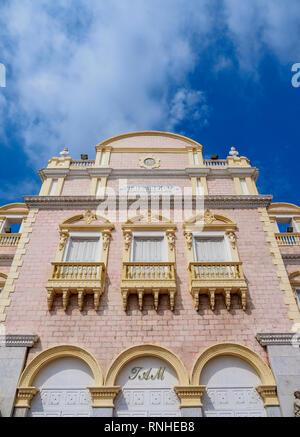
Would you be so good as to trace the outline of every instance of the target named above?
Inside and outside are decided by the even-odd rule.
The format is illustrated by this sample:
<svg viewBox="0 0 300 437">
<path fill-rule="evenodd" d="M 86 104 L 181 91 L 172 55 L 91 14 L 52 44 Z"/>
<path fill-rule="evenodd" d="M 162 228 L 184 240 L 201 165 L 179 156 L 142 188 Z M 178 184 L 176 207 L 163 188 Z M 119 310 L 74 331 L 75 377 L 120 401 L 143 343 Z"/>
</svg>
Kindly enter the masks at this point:
<svg viewBox="0 0 300 437">
<path fill-rule="evenodd" d="M 240 295 L 242 308 L 246 310 L 247 284 L 236 247 L 236 228 L 230 218 L 209 209 L 183 224 L 190 293 L 197 311 L 200 295 L 209 297 L 214 310 L 217 294 L 224 296 L 227 310 L 231 307 L 231 296 Z M 226 250 L 226 240 L 230 254 Z"/>
</svg>

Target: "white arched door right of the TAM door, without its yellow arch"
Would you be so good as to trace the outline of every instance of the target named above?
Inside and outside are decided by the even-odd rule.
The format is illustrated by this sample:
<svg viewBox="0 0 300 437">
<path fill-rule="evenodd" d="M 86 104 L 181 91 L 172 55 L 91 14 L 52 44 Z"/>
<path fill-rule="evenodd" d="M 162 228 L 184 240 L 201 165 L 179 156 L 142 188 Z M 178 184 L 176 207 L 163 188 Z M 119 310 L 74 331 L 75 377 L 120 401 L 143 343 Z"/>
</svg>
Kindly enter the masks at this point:
<svg viewBox="0 0 300 437">
<path fill-rule="evenodd" d="M 255 389 L 261 381 L 254 369 L 237 357 L 210 360 L 203 368 L 200 385 L 206 385 L 202 397 L 204 416 L 266 416 L 263 400 Z"/>
</svg>

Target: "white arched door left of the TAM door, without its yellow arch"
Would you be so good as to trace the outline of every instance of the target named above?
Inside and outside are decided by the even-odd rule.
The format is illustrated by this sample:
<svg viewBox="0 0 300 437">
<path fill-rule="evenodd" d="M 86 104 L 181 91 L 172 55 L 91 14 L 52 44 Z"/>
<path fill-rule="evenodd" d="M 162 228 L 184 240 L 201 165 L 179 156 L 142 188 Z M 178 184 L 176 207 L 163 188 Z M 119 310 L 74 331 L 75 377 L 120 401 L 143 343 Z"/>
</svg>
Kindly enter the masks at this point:
<svg viewBox="0 0 300 437">
<path fill-rule="evenodd" d="M 74 357 L 46 364 L 33 384 L 39 389 L 28 411 L 33 417 L 92 416 L 92 399 L 87 387 L 94 384 L 90 367 Z"/>
</svg>

